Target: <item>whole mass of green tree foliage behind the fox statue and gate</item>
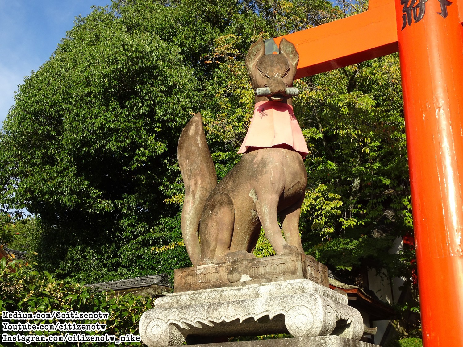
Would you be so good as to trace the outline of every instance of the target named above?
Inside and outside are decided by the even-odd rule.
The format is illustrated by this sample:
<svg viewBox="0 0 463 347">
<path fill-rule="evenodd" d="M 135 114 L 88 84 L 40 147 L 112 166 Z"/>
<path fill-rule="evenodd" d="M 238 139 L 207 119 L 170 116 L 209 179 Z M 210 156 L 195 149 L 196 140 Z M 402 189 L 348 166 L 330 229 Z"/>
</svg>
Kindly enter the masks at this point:
<svg viewBox="0 0 463 347">
<path fill-rule="evenodd" d="M 19 87 L 0 137 L 2 201 L 40 218 L 39 264 L 88 281 L 188 266 L 176 142 L 191 113 L 202 112 L 221 178 L 252 116 L 250 44 L 363 5 L 349 13 L 325 0 L 119 0 L 77 18 Z M 412 233 L 398 57 L 296 86 L 310 149 L 306 251 L 346 277 L 365 267 L 408 273 L 413 252 L 388 252 Z M 272 253 L 262 237 L 257 253 Z"/>
</svg>

